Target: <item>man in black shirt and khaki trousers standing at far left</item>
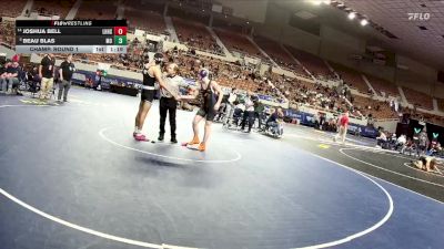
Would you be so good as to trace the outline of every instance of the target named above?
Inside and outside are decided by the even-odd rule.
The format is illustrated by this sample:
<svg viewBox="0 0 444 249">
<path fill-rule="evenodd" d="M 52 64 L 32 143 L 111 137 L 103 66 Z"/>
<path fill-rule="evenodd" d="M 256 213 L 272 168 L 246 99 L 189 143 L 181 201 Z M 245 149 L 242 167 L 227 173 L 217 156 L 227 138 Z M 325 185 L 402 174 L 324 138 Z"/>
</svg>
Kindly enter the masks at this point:
<svg viewBox="0 0 444 249">
<path fill-rule="evenodd" d="M 52 91 L 54 84 L 54 54 L 46 54 L 40 62 L 39 77 L 41 79 L 40 84 L 40 100 L 49 98 L 49 91 Z"/>
</svg>

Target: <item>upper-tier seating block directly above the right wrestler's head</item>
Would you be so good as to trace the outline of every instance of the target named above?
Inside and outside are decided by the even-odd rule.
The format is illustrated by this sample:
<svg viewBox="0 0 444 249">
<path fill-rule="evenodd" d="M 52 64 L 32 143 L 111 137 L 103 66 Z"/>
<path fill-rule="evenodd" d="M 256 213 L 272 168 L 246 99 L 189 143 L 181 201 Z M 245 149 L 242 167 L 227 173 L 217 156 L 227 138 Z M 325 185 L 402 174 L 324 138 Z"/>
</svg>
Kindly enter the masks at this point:
<svg viewBox="0 0 444 249">
<path fill-rule="evenodd" d="M 181 43 L 205 52 L 223 54 L 222 49 L 202 23 L 180 18 L 172 20 Z"/>
</svg>

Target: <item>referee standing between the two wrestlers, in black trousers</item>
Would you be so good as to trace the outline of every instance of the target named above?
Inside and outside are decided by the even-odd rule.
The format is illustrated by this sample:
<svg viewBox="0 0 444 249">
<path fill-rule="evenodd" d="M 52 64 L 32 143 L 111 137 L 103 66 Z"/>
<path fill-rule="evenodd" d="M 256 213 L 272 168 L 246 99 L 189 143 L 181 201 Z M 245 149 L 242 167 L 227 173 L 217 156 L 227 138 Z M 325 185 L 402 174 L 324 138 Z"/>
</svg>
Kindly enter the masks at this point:
<svg viewBox="0 0 444 249">
<path fill-rule="evenodd" d="M 171 87 L 173 92 L 179 93 L 181 86 L 186 87 L 186 83 L 181 76 L 178 75 L 179 66 L 175 63 L 170 63 L 167 66 L 167 79 L 165 83 Z M 160 89 L 160 132 L 159 141 L 163 141 L 165 134 L 165 120 L 167 113 L 170 114 L 170 127 L 171 127 L 171 143 L 178 143 L 175 137 L 175 111 L 178 108 L 178 101 L 167 92 L 164 89 Z"/>
</svg>

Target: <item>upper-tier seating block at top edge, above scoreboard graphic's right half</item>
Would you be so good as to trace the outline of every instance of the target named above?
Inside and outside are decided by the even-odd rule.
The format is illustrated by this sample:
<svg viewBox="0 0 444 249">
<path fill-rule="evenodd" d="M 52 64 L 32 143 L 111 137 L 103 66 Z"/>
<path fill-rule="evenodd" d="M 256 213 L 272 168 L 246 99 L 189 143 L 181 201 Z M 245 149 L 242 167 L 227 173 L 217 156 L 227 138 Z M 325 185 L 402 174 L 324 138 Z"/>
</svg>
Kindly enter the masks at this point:
<svg viewBox="0 0 444 249">
<path fill-rule="evenodd" d="M 112 20 L 118 10 L 117 1 L 85 0 L 79 8 L 75 19 Z"/>
</svg>

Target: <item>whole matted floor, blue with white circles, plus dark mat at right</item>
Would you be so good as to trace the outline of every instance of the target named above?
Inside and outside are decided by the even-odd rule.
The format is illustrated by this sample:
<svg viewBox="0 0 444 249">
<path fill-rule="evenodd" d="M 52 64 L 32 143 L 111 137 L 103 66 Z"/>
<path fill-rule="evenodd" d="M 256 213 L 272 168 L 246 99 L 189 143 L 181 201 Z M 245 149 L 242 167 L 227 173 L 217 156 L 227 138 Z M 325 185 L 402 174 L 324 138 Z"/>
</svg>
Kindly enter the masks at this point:
<svg viewBox="0 0 444 249">
<path fill-rule="evenodd" d="M 60 105 L 0 96 L 1 248 L 444 245 L 444 176 L 373 141 L 349 136 L 340 145 L 294 125 L 274 139 L 214 124 L 200 153 L 135 142 L 139 98 L 70 94 Z M 158 114 L 155 102 L 150 138 Z M 179 111 L 180 142 L 191 138 L 193 115 Z"/>
</svg>

